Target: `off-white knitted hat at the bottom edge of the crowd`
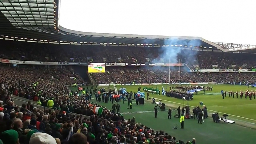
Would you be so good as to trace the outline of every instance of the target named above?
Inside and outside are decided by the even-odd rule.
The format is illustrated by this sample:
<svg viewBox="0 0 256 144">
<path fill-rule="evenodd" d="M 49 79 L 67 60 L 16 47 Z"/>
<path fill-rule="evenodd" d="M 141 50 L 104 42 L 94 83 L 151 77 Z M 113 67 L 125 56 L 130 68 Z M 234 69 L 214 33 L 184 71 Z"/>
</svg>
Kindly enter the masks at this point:
<svg viewBox="0 0 256 144">
<path fill-rule="evenodd" d="M 37 132 L 32 134 L 29 144 L 57 144 L 57 142 L 51 135 Z"/>
</svg>

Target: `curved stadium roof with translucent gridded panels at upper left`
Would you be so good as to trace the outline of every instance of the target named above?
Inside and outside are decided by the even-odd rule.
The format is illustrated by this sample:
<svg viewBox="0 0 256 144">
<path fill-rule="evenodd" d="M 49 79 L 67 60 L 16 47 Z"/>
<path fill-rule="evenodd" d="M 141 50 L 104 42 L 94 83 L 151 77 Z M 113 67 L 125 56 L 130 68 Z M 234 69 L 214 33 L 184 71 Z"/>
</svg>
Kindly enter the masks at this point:
<svg viewBox="0 0 256 144">
<path fill-rule="evenodd" d="M 196 46 L 209 50 L 237 51 L 254 49 L 255 46 L 241 44 L 213 43 L 200 37 L 138 37 L 113 34 L 93 34 L 68 31 L 57 27 L 58 0 L 1 0 L 0 1 L 0 39 L 30 42 L 76 43 L 76 44 L 116 44 L 167 46 L 175 39 L 174 46 L 186 46 L 193 41 Z M 232 49 L 232 50 L 231 50 Z"/>
</svg>

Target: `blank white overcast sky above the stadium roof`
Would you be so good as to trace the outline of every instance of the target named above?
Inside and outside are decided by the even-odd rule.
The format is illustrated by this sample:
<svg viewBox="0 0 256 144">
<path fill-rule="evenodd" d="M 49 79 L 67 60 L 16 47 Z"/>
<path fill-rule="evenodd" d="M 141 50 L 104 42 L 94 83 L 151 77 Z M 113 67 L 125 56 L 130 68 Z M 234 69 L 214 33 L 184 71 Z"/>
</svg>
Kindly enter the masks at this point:
<svg viewBox="0 0 256 144">
<path fill-rule="evenodd" d="M 256 0 L 61 0 L 60 26 L 256 45 Z"/>
</svg>

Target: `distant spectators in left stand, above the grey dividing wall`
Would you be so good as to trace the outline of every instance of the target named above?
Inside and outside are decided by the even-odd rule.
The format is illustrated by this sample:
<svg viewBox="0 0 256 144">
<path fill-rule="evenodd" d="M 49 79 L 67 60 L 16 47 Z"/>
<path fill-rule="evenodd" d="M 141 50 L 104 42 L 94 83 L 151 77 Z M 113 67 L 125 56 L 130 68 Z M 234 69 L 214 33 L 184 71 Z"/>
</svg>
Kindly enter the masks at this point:
<svg viewBox="0 0 256 144">
<path fill-rule="evenodd" d="M 83 79 L 72 69 L 45 68 L 43 66 L 12 68 L 0 67 L 1 88 L 4 94 L 42 100 L 42 106 L 49 98 L 56 100 L 56 106 L 65 103 L 61 99 L 69 94 L 66 85 L 84 84 Z M 7 91 L 9 90 L 9 91 Z M 60 100 L 58 100 L 60 99 Z M 1 97 L 1 101 L 9 100 Z"/>
</svg>

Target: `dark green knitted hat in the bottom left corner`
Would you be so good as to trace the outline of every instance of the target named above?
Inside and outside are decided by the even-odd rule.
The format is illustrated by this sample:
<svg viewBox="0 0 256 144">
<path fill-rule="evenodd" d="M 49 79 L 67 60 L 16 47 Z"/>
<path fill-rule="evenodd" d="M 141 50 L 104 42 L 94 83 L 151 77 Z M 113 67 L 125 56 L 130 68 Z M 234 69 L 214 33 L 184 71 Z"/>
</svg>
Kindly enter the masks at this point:
<svg viewBox="0 0 256 144">
<path fill-rule="evenodd" d="M 10 129 L 2 132 L 1 140 L 4 144 L 16 144 L 19 139 L 19 134 L 17 131 Z"/>
</svg>

